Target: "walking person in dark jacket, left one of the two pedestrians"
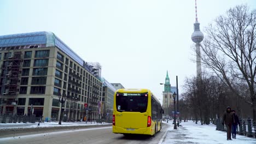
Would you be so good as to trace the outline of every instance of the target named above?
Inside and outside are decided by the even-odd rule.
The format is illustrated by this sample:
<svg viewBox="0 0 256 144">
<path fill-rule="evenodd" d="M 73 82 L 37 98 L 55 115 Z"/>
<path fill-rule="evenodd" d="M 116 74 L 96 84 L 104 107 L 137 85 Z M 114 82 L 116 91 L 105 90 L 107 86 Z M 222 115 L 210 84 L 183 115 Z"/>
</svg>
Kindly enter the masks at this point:
<svg viewBox="0 0 256 144">
<path fill-rule="evenodd" d="M 227 139 L 226 140 L 232 140 L 231 139 L 231 127 L 232 127 L 232 123 L 234 122 L 234 119 L 233 119 L 233 113 L 231 112 L 231 108 L 228 106 L 226 108 L 226 112 L 224 113 L 223 115 L 223 119 L 222 119 L 222 124 L 226 125 L 226 137 Z"/>
</svg>

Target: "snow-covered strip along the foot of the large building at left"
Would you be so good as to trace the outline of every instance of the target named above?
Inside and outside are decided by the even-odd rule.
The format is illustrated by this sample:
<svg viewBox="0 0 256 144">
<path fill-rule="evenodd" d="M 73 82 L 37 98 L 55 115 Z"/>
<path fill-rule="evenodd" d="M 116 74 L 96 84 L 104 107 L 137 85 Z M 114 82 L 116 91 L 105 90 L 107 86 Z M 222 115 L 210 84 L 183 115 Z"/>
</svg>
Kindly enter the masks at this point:
<svg viewBox="0 0 256 144">
<path fill-rule="evenodd" d="M 45 122 L 40 123 L 0 123 L 1 129 L 24 129 L 24 128 L 49 128 L 49 127 L 72 127 L 72 126 L 82 126 L 82 125 L 107 125 L 109 123 L 94 123 L 94 122 Z"/>
</svg>

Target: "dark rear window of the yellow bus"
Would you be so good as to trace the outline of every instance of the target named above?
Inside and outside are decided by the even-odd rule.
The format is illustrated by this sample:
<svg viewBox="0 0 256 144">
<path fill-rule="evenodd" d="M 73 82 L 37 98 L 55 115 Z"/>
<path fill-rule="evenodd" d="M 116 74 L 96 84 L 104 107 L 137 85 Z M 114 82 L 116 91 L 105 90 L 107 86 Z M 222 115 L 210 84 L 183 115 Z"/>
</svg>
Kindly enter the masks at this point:
<svg viewBox="0 0 256 144">
<path fill-rule="evenodd" d="M 117 111 L 146 112 L 148 93 L 117 93 Z"/>
</svg>

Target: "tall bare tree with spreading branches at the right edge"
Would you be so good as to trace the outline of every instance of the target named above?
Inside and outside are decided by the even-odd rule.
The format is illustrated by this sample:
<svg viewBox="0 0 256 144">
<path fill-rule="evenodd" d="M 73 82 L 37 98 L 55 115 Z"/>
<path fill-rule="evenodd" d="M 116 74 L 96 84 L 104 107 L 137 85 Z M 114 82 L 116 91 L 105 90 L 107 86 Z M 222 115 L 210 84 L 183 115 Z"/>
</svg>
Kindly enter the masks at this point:
<svg viewBox="0 0 256 144">
<path fill-rule="evenodd" d="M 252 105 L 256 121 L 256 10 L 238 5 L 219 16 L 206 28 L 202 63 L 214 71 L 233 93 Z M 248 89 L 248 94 L 236 89 L 237 84 Z M 246 96 L 248 95 L 249 100 Z"/>
</svg>

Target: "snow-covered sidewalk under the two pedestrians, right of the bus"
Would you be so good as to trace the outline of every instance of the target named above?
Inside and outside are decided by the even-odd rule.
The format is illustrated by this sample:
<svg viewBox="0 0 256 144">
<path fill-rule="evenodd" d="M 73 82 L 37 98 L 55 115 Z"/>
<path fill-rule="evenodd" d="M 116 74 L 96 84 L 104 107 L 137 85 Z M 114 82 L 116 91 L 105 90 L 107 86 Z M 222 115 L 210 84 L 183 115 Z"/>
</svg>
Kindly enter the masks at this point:
<svg viewBox="0 0 256 144">
<path fill-rule="evenodd" d="M 173 124 L 167 123 L 171 127 L 168 128 L 166 134 L 162 137 L 159 143 L 234 143 L 234 144 L 255 144 L 256 139 L 242 135 L 236 135 L 236 139 L 231 141 L 226 140 L 226 133 L 224 131 L 216 130 L 216 125 L 201 125 L 195 124 L 192 121 L 182 122 L 182 127 L 173 129 Z"/>
</svg>

